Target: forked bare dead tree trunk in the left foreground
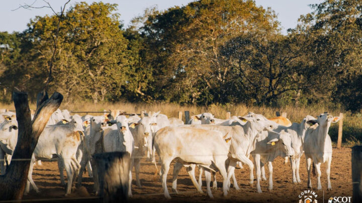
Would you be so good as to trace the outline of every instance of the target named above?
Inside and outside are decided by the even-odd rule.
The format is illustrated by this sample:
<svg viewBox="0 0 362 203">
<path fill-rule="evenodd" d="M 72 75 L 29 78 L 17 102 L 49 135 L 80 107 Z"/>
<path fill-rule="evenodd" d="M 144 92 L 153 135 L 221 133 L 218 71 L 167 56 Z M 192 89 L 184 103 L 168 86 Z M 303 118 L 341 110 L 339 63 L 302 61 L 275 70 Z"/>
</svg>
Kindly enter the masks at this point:
<svg viewBox="0 0 362 203">
<path fill-rule="evenodd" d="M 13 100 L 18 121 L 18 143 L 6 173 L 0 176 L 2 200 L 22 199 L 27 182 L 31 156 L 51 114 L 60 106 L 63 96 L 54 92 L 50 99 L 46 92 L 38 96 L 37 110 L 31 120 L 28 93 L 14 92 Z M 17 160 L 20 159 L 20 160 Z"/>
</svg>

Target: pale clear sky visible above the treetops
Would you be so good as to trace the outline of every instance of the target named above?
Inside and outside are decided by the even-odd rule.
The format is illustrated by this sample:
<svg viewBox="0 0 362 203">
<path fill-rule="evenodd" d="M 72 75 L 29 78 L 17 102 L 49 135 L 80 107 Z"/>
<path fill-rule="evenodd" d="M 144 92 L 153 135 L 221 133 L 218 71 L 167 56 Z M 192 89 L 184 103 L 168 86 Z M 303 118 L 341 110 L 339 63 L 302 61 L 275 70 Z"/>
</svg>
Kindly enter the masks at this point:
<svg viewBox="0 0 362 203">
<path fill-rule="evenodd" d="M 11 0 L 1 1 L 0 6 L 0 31 L 4 32 L 21 32 L 27 28 L 27 24 L 31 18 L 35 16 L 45 16 L 46 14 L 52 14 L 48 8 L 25 10 L 17 9 L 19 5 L 27 3 L 33 4 L 35 0 Z M 66 2 L 65 0 L 46 0 L 54 8 L 56 12 L 60 11 L 60 7 Z M 99 2 L 94 0 L 71 0 L 69 4 L 74 5 L 75 2 Z M 146 8 L 157 6 L 158 10 L 165 10 L 172 6 L 187 5 L 193 0 L 104 0 L 104 3 L 118 4 L 118 13 L 121 14 L 121 20 L 124 24 L 129 25 L 131 19 L 135 16 L 139 16 Z M 286 34 L 287 29 L 294 28 L 297 25 L 298 18 L 301 15 L 305 15 L 311 12 L 308 7 L 309 4 L 321 3 L 322 0 L 255 0 L 256 5 L 264 8 L 271 7 L 277 14 L 278 20 L 281 22 L 282 33 Z M 36 0 L 34 6 L 41 7 L 45 3 L 43 0 Z M 67 9 L 69 6 L 67 6 Z"/>
</svg>

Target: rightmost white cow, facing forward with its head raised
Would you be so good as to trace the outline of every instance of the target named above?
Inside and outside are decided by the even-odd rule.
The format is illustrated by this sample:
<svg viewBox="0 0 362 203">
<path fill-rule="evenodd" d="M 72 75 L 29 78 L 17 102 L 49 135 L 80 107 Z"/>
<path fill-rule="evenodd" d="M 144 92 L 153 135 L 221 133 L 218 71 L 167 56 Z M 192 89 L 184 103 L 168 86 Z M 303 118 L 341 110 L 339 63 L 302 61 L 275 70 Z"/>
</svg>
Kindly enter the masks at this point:
<svg viewBox="0 0 362 203">
<path fill-rule="evenodd" d="M 339 117 L 333 117 L 328 113 L 324 113 L 318 116 L 316 120 L 308 121 L 310 124 L 318 123 L 307 129 L 304 138 L 304 151 L 307 159 L 307 171 L 308 171 L 308 188 L 312 188 L 312 182 L 310 179 L 311 163 L 314 163 L 317 169 L 318 186 L 317 189 L 322 189 L 320 182 L 321 163 L 327 162 L 326 173 L 327 173 L 327 189 L 332 189 L 329 175 L 330 175 L 330 164 L 332 161 L 332 141 L 328 135 L 328 130 L 331 123 L 339 121 Z"/>
</svg>

